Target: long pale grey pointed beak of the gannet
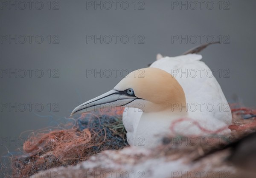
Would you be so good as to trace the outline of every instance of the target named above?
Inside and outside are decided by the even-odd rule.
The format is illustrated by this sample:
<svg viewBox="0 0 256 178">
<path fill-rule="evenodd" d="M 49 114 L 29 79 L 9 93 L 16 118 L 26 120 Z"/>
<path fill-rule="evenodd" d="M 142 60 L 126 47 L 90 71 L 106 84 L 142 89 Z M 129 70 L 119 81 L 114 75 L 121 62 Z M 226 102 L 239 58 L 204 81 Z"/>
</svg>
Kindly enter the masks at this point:
<svg viewBox="0 0 256 178">
<path fill-rule="evenodd" d="M 78 113 L 85 113 L 104 107 L 125 106 L 138 99 L 136 96 L 128 96 L 124 91 L 110 90 L 94 99 L 91 99 L 76 107 L 70 116 Z"/>
</svg>

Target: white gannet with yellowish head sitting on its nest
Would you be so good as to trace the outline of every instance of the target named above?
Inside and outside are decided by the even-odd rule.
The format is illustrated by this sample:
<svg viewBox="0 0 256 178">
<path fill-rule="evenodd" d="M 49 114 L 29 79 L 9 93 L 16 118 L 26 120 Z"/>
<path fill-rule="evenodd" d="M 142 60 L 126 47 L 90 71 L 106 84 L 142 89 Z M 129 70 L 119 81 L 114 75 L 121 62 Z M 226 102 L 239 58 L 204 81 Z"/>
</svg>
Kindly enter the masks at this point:
<svg viewBox="0 0 256 178">
<path fill-rule="evenodd" d="M 110 105 L 127 107 L 122 120 L 131 146 L 155 147 L 166 134 L 228 135 L 230 107 L 201 58 L 198 54 L 163 57 L 149 68 L 129 73 L 113 90 L 79 105 L 71 116 Z M 179 70 L 183 75 L 177 74 Z M 189 70 L 198 73 L 186 75 Z"/>
</svg>

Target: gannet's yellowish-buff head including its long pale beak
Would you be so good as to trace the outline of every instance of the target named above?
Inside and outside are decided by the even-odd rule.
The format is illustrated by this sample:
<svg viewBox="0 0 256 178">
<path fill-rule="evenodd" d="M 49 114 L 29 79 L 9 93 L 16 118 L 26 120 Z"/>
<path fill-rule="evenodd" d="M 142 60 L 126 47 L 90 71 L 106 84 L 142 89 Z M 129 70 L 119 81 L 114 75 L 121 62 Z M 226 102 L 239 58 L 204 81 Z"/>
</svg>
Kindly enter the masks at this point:
<svg viewBox="0 0 256 178">
<path fill-rule="evenodd" d="M 135 107 L 143 112 L 176 111 L 177 104 L 186 104 L 183 88 L 177 80 L 159 68 L 143 68 L 129 73 L 113 90 L 76 107 L 71 116 L 116 106 Z"/>
</svg>

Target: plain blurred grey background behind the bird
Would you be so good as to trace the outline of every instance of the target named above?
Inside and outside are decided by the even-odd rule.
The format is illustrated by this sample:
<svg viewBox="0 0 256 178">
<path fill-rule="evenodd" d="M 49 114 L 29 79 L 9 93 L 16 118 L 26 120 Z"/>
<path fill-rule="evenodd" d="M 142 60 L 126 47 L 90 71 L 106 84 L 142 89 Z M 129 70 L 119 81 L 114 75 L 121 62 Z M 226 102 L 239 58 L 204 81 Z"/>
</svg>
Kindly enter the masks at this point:
<svg viewBox="0 0 256 178">
<path fill-rule="evenodd" d="M 8 1 L 7 1 L 8 2 Z M 15 3 L 15 1 L 12 1 Z M 36 2 L 36 1 L 35 1 Z M 200 45 L 200 41 L 172 42 L 172 35 L 212 35 L 215 41 L 218 36 L 228 35 L 229 44 L 212 45 L 201 52 L 203 61 L 215 71 L 215 77 L 221 85 L 229 102 L 241 102 L 247 107 L 256 106 L 256 12 L 254 0 L 234 0 L 222 2 L 221 10 L 218 1 L 212 1 L 214 8 L 209 10 L 205 5 L 195 10 L 192 4 L 186 7 L 173 7 L 172 1 L 145 0 L 128 1 L 129 8 L 123 10 L 121 1 L 110 10 L 86 6 L 86 1 L 58 0 L 58 10 L 48 9 L 48 1 L 42 1 L 44 8 L 38 10 L 35 4 L 17 10 L 7 6 L 1 7 L 1 35 L 42 35 L 41 44 L 32 38 L 27 42 L 3 41 L 0 45 L 0 68 L 41 69 L 41 78 L 32 73 L 21 78 L 3 75 L 0 79 L 1 103 L 42 103 L 44 110 L 38 112 L 35 105 L 24 112 L 1 108 L 0 135 L 1 155 L 15 153 L 22 147 L 22 139 L 31 131 L 48 126 L 65 123 L 73 108 L 82 102 L 112 89 L 121 79 L 120 71 L 129 72 L 144 68 L 153 62 L 157 53 L 166 56 L 177 56 L 186 50 Z M 94 1 L 93 1 L 94 2 Z M 100 1 L 97 1 L 100 3 Z M 179 3 L 180 1 L 178 1 Z M 182 1 L 186 3 L 186 1 Z M 195 1 L 198 2 L 198 1 Z M 106 4 L 105 4 L 106 5 Z M 112 4 L 113 5 L 113 4 Z M 124 5 L 124 4 L 123 4 Z M 138 10 L 143 5 L 144 10 Z M 199 5 L 199 4 L 198 4 Z M 210 5 L 210 4 L 208 4 Z M 229 10 L 225 10 L 227 6 Z M 28 4 L 27 4 L 28 6 Z M 108 6 L 105 6 L 108 8 Z M 125 6 L 123 6 L 125 7 Z M 88 9 L 87 9 L 88 8 Z M 129 42 L 117 44 L 97 41 L 86 42 L 86 35 L 128 35 Z M 48 43 L 48 35 L 58 35 L 59 44 Z M 143 35 L 144 44 L 134 44 L 132 36 Z M 3 36 L 2 36 L 3 37 Z M 34 39 L 34 40 L 33 40 Z M 53 39 L 53 38 L 52 38 Z M 206 40 L 203 38 L 203 43 Z M 47 70 L 58 69 L 58 78 L 48 77 Z M 89 75 L 86 69 L 103 71 L 119 69 L 117 76 Z M 224 73 L 219 76 L 218 70 L 228 69 L 229 78 Z M 53 74 L 53 73 L 52 73 Z M 108 75 L 108 73 L 106 73 Z M 125 75 L 125 71 L 123 73 Z M 235 97 L 236 96 L 236 97 Z M 58 112 L 48 111 L 47 103 L 58 103 Z M 22 108 L 21 108 L 22 109 Z M 7 142 L 3 141 L 7 139 Z M 14 140 L 14 141 L 12 141 Z"/>
</svg>

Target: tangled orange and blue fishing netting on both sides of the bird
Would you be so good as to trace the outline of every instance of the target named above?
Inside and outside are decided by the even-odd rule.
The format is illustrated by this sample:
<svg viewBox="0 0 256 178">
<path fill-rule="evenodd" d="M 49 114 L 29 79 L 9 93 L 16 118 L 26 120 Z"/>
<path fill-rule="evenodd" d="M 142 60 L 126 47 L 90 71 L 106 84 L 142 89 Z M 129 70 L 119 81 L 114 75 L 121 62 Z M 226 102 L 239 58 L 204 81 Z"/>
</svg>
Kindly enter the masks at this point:
<svg viewBox="0 0 256 178">
<path fill-rule="evenodd" d="M 230 105 L 233 138 L 256 130 L 256 110 Z M 23 154 L 12 156 L 9 177 L 29 177 L 53 167 L 76 165 L 103 150 L 119 150 L 126 146 L 122 124 L 122 108 L 111 112 L 83 113 L 75 124 L 61 129 L 38 132 L 23 144 Z M 169 141 L 167 141 L 169 142 Z"/>
</svg>

